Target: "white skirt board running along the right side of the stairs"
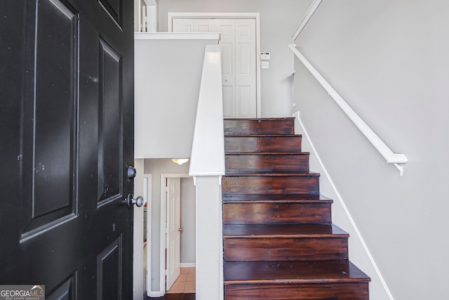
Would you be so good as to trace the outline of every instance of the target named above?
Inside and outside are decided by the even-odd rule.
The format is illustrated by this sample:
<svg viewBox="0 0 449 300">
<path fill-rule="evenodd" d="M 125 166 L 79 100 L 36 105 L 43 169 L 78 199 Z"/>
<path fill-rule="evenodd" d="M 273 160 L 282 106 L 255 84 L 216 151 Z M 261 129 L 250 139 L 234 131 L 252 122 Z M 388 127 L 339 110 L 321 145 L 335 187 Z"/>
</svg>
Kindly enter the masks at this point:
<svg viewBox="0 0 449 300">
<path fill-rule="evenodd" d="M 301 134 L 302 138 L 302 151 L 310 152 L 309 155 L 309 167 L 312 171 L 315 171 L 320 176 L 320 190 L 322 195 L 337 200 L 333 202 L 332 206 L 332 220 L 335 225 L 339 226 L 343 230 L 347 231 L 351 238 L 349 239 L 349 249 L 351 249 L 351 261 L 353 261 L 359 268 L 370 276 L 370 297 L 371 299 L 389 299 L 394 300 L 391 294 L 387 282 L 385 282 L 380 269 L 375 262 L 373 255 L 368 248 L 363 236 L 358 230 L 356 221 L 351 216 L 349 208 L 344 202 L 342 195 L 337 190 L 337 187 L 333 183 L 328 170 L 323 164 L 319 153 L 314 147 L 313 142 L 307 130 L 300 120 L 300 112 L 293 113 L 292 117 L 295 117 L 295 134 Z"/>
</svg>

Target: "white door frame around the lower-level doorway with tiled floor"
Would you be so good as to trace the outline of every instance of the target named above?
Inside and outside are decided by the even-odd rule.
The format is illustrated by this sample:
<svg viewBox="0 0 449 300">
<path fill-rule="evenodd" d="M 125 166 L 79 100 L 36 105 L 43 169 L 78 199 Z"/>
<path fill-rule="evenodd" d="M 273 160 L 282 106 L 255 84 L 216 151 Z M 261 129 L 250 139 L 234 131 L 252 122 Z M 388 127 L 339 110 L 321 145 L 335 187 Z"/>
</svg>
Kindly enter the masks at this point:
<svg viewBox="0 0 449 300">
<path fill-rule="evenodd" d="M 159 240 L 159 291 L 160 296 L 166 294 L 166 222 L 167 222 L 167 203 L 166 203 L 166 178 L 189 178 L 189 174 L 161 174 L 161 225 Z M 181 199 L 182 201 L 182 199 Z"/>
</svg>

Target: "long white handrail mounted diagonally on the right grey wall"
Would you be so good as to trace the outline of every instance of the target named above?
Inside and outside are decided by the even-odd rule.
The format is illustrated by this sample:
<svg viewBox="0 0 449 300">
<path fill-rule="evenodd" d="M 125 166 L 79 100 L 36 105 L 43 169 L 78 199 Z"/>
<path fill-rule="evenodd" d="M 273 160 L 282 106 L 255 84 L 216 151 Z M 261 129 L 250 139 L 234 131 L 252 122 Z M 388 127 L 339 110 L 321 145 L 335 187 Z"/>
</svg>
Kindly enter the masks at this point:
<svg viewBox="0 0 449 300">
<path fill-rule="evenodd" d="M 323 76 L 314 68 L 314 66 L 309 63 L 309 61 L 297 50 L 296 45 L 290 44 L 288 47 L 295 53 L 295 56 L 299 58 L 304 67 L 309 70 L 309 72 L 319 81 L 321 86 L 328 92 L 329 96 L 332 97 L 335 102 L 340 106 L 340 108 L 346 113 L 346 115 L 351 119 L 352 122 L 357 126 L 357 128 L 368 138 L 371 144 L 380 152 L 380 154 L 387 159 L 388 164 L 394 164 L 394 166 L 399 170 L 401 176 L 403 176 L 403 164 L 408 162 L 406 155 L 402 153 L 394 153 L 391 149 L 377 136 L 377 134 L 370 129 L 370 126 L 366 124 L 361 117 L 348 105 L 348 103 L 333 89 L 332 86 L 324 79 Z"/>
</svg>

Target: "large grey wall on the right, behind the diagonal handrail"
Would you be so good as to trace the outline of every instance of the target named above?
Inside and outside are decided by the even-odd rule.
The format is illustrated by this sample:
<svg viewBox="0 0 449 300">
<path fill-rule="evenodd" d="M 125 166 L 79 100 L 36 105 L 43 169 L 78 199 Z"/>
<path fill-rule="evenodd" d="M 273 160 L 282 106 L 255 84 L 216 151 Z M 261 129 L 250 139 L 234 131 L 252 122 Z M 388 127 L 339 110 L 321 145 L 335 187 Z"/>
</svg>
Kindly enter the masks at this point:
<svg viewBox="0 0 449 300">
<path fill-rule="evenodd" d="M 448 11 L 449 2 L 438 0 L 323 1 L 296 41 L 409 159 L 400 177 L 297 63 L 294 101 L 392 299 L 447 298 Z M 343 216 L 333 217 L 344 225 Z M 371 299 L 386 299 L 377 295 Z"/>
</svg>

